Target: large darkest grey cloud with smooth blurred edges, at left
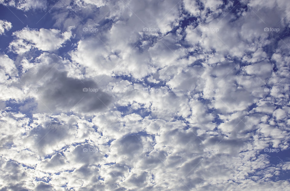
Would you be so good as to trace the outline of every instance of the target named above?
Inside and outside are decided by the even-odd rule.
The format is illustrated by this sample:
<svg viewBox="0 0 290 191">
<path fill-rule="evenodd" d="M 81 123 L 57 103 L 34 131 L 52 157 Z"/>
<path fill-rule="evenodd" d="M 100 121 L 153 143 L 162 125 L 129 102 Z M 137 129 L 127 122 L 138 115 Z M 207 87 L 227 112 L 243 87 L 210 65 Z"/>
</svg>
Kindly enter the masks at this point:
<svg viewBox="0 0 290 191">
<path fill-rule="evenodd" d="M 30 84 L 38 109 L 45 112 L 96 112 L 108 109 L 112 97 L 98 89 L 93 80 L 68 77 L 67 72 L 54 67 L 40 67 L 27 73 L 23 81 Z"/>
</svg>

